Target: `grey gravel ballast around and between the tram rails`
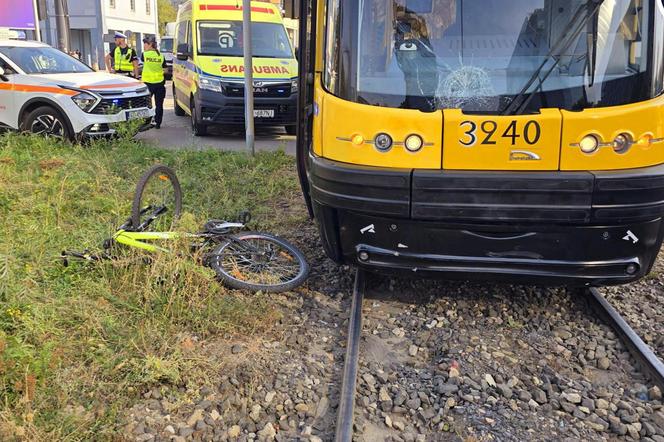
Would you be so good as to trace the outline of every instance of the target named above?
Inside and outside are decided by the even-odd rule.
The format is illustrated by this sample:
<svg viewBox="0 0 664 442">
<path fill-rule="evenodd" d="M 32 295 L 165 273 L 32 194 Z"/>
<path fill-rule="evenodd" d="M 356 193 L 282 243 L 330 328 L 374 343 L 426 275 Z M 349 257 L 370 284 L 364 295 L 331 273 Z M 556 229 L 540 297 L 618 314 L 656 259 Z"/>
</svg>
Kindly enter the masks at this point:
<svg viewBox="0 0 664 442">
<path fill-rule="evenodd" d="M 210 346 L 229 362 L 205 386 L 143 392 L 126 416 L 128 439 L 333 440 L 354 271 L 324 258 L 313 228 L 298 235 L 289 239 L 310 258 L 312 276 L 296 292 L 271 295 L 283 312 L 274 332 Z M 664 442 L 661 391 L 582 299 L 562 289 L 368 283 L 357 440 Z M 657 274 L 602 289 L 660 357 L 661 287 Z"/>
</svg>

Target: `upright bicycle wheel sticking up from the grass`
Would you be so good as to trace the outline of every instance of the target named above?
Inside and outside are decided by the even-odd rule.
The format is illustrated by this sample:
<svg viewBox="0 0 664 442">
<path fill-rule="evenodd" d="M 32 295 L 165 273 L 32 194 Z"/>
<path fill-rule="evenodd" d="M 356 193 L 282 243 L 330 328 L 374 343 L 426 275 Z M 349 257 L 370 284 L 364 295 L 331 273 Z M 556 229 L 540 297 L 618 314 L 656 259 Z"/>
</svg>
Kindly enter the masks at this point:
<svg viewBox="0 0 664 442">
<path fill-rule="evenodd" d="M 138 180 L 131 205 L 132 227 L 151 225 L 153 230 L 167 231 L 181 211 L 182 189 L 175 171 L 162 164 L 146 170 Z"/>
</svg>

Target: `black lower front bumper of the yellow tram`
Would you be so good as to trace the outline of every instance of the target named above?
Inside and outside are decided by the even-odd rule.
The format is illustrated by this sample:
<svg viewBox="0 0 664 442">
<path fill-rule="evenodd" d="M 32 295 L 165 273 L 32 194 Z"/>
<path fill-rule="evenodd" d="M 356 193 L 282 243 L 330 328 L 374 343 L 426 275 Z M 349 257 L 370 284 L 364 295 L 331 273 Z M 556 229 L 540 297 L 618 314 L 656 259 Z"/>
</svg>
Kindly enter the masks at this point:
<svg viewBox="0 0 664 442">
<path fill-rule="evenodd" d="M 328 255 L 369 269 L 544 285 L 645 276 L 664 166 L 621 172 L 413 171 L 310 157 Z"/>
</svg>

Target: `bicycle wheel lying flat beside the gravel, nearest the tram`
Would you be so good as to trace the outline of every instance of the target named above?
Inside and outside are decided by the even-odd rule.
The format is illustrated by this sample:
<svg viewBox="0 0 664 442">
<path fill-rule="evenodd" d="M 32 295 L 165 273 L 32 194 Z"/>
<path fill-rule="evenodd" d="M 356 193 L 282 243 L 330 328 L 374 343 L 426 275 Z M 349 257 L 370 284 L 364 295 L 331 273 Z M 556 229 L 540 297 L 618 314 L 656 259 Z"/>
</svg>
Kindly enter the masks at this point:
<svg viewBox="0 0 664 442">
<path fill-rule="evenodd" d="M 297 247 L 267 233 L 227 238 L 215 247 L 208 263 L 225 284 L 249 291 L 292 290 L 309 274 L 309 264 Z"/>
</svg>

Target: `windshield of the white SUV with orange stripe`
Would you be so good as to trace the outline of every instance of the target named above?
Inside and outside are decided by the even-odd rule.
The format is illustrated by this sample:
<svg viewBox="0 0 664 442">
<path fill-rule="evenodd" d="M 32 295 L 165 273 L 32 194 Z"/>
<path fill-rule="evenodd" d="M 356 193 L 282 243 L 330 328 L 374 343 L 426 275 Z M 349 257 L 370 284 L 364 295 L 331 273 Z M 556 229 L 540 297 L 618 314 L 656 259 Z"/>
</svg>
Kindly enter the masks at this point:
<svg viewBox="0 0 664 442">
<path fill-rule="evenodd" d="M 92 72 L 74 57 L 51 47 L 3 46 L 0 52 L 16 63 L 26 74 L 68 74 Z"/>
</svg>

